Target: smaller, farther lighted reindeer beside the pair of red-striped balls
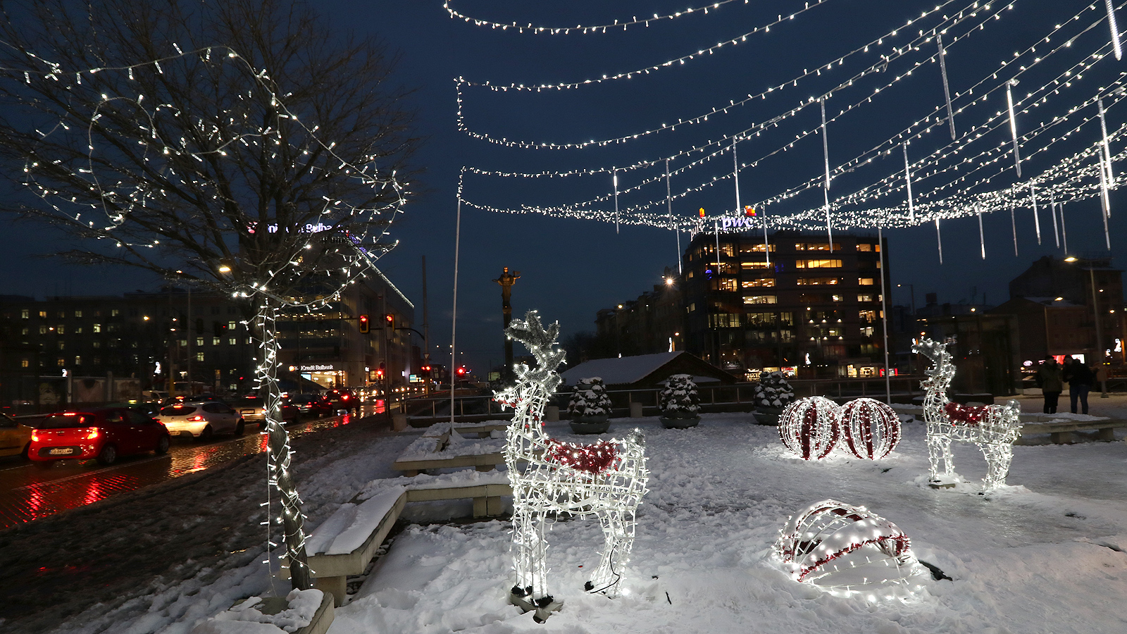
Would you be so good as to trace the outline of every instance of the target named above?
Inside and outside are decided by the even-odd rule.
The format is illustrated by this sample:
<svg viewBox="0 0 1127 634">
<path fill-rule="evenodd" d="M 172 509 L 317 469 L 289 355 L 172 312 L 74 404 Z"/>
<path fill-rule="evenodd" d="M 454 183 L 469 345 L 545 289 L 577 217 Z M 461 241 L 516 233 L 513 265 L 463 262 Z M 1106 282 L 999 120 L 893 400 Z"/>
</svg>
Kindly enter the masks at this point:
<svg viewBox="0 0 1127 634">
<path fill-rule="evenodd" d="M 950 482 L 956 475 L 951 458 L 952 440 L 974 442 L 982 450 L 987 465 L 984 491 L 1004 485 L 1013 458 L 1013 441 L 1021 435 L 1018 402 L 978 407 L 951 403 L 947 398 L 947 388 L 955 377 L 955 366 L 947 344 L 923 338 L 912 346 L 912 352 L 923 354 L 932 362 L 928 379 L 921 382 L 925 394 L 923 415 L 928 423 L 932 486 L 941 486 L 940 483 Z M 939 473 L 940 460 L 943 463 L 942 477 Z"/>
</svg>

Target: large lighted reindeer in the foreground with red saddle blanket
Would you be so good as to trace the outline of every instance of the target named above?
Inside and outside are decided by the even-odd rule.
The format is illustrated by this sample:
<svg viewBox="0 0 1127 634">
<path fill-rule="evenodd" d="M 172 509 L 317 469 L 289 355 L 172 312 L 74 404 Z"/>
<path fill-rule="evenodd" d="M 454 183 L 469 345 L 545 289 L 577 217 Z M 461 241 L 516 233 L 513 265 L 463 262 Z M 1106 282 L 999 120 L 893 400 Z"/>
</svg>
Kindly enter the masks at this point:
<svg viewBox="0 0 1127 634">
<path fill-rule="evenodd" d="M 505 463 L 513 485 L 513 569 L 516 574 L 509 600 L 543 623 L 557 601 L 548 592 L 548 543 L 544 527 L 560 513 L 598 516 L 606 538 L 602 560 L 585 589 L 618 595 L 633 545 L 635 513 L 646 493 L 646 438 L 635 430 L 623 440 L 571 444 L 553 440 L 542 425 L 544 405 L 556 391 L 556 368 L 564 352 L 556 349 L 559 323 L 545 331 L 536 311 L 514 319 L 505 334 L 527 346 L 536 360 L 530 369 L 515 368 L 517 382 L 496 393 L 513 407 L 506 432 Z"/>
</svg>

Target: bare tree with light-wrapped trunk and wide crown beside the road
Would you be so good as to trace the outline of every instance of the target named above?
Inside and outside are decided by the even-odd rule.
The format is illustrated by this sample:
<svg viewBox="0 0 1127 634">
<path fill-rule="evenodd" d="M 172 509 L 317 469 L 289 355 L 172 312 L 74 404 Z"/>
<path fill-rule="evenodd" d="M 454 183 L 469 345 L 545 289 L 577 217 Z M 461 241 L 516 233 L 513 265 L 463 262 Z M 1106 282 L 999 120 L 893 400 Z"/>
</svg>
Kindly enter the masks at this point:
<svg viewBox="0 0 1127 634">
<path fill-rule="evenodd" d="M 331 307 L 393 246 L 415 140 L 392 62 L 295 0 L 6 9 L 0 155 L 36 196 L 9 210 L 79 238 L 71 259 L 247 302 L 290 576 L 309 588 L 276 319 Z"/>
</svg>

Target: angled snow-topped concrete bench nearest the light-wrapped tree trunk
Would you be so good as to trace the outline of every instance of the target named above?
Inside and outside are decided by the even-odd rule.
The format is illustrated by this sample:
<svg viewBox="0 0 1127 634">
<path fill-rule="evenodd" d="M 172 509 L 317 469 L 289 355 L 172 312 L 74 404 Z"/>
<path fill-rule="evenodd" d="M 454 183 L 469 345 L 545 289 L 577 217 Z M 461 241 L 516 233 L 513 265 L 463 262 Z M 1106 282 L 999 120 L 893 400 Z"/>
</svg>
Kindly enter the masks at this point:
<svg viewBox="0 0 1127 634">
<path fill-rule="evenodd" d="M 507 483 L 406 487 L 358 547 L 348 553 L 309 553 L 307 555 L 310 574 L 313 576 L 313 587 L 326 595 L 331 593 L 336 605 L 339 606 L 345 598 L 347 576 L 363 574 L 367 562 L 372 561 L 380 545 L 388 538 L 388 534 L 391 532 L 391 528 L 408 502 L 472 499 L 473 517 L 481 518 L 499 516 L 502 513 L 502 495 L 512 494 L 513 487 Z M 355 504 L 363 502 L 353 500 Z M 330 517 L 322 522 L 318 530 L 322 527 L 332 527 L 335 522 L 330 521 L 331 519 Z M 311 541 L 318 536 L 318 530 L 310 535 Z M 287 575 L 289 573 L 283 570 L 282 574 Z"/>
</svg>

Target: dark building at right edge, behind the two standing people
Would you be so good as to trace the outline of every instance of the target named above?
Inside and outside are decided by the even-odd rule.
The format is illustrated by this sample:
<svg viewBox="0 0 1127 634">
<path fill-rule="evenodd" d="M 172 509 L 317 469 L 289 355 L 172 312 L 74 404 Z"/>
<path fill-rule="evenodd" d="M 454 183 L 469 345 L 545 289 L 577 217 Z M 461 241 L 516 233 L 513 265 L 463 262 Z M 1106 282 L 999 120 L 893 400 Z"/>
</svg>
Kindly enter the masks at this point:
<svg viewBox="0 0 1127 634">
<path fill-rule="evenodd" d="M 1110 257 L 1045 256 L 1010 282 L 1010 300 L 991 312 L 1017 317 L 1023 364 L 1036 366 L 1048 354 L 1120 364 L 1127 338 L 1122 310 L 1122 271 Z"/>
</svg>

